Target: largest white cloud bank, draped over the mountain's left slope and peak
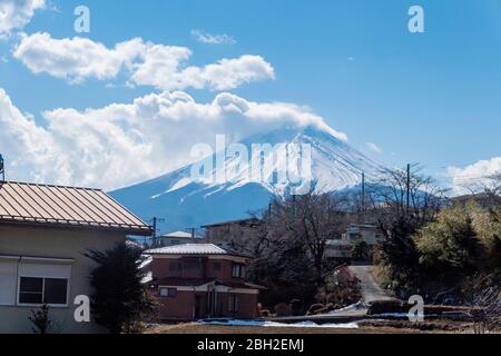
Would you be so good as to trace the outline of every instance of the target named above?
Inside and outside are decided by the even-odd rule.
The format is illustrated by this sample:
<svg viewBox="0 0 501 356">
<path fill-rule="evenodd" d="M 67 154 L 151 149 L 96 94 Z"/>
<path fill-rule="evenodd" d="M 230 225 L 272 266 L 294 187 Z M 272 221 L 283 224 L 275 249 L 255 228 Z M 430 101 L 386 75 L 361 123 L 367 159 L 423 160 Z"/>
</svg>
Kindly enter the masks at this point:
<svg viewBox="0 0 501 356">
<path fill-rule="evenodd" d="M 112 189 L 178 168 L 193 160 L 195 144 L 214 145 L 217 134 L 237 141 L 263 129 L 316 125 L 346 139 L 303 107 L 229 93 L 207 103 L 181 91 L 151 93 L 98 109 L 55 109 L 42 119 L 22 113 L 0 89 L 0 151 L 9 179 Z"/>
</svg>

